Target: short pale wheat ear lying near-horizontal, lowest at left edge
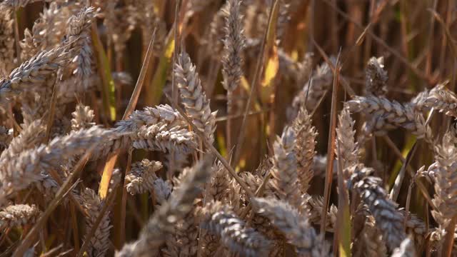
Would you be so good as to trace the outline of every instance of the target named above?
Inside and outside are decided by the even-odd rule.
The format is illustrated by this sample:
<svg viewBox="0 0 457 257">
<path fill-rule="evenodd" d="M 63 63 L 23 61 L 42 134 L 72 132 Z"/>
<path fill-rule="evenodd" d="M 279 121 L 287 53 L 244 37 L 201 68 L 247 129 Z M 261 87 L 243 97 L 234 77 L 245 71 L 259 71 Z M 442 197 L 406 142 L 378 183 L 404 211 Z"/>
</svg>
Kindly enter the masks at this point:
<svg viewBox="0 0 457 257">
<path fill-rule="evenodd" d="M 40 210 L 35 205 L 16 204 L 7 206 L 0 211 L 0 228 L 14 228 L 34 223 Z"/>
</svg>

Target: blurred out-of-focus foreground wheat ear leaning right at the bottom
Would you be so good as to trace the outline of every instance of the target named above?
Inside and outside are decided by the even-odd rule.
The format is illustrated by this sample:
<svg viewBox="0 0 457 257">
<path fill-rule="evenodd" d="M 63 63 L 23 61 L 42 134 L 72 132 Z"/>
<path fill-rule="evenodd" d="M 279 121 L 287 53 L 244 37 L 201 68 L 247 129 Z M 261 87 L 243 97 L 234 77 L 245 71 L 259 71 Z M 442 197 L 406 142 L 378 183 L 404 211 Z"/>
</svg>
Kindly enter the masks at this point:
<svg viewBox="0 0 457 257">
<path fill-rule="evenodd" d="M 159 248 L 164 243 L 164 233 L 174 231 L 174 224 L 184 218 L 192 209 L 194 199 L 201 194 L 201 188 L 211 170 L 211 161 L 205 160 L 196 164 L 187 174 L 178 189 L 173 191 L 169 201 L 164 203 L 149 219 L 141 231 L 139 241 L 134 247 L 134 256 L 154 256 L 159 254 Z M 131 251 L 127 246 L 125 251 Z M 124 249 L 117 256 L 122 256 Z"/>
</svg>

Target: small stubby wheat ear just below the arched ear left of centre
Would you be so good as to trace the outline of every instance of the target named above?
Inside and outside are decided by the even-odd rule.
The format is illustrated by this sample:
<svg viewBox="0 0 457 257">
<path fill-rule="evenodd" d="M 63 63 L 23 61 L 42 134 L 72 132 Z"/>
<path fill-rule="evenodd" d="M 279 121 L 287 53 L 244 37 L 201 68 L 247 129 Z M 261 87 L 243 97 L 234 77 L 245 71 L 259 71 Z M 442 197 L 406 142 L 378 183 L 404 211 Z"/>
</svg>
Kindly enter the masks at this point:
<svg viewBox="0 0 457 257">
<path fill-rule="evenodd" d="M 157 179 L 156 171 L 161 168 L 162 163 L 148 159 L 132 164 L 131 171 L 125 178 L 127 192 L 133 196 L 137 193 L 154 190 L 154 181 Z"/>
</svg>

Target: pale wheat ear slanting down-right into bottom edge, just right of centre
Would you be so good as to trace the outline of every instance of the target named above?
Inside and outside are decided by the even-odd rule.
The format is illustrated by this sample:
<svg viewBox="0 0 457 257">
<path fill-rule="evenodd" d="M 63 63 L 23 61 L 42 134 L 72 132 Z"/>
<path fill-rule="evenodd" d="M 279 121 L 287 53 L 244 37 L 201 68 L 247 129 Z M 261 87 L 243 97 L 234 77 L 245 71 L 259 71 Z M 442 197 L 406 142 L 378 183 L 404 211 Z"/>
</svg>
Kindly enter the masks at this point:
<svg viewBox="0 0 457 257">
<path fill-rule="evenodd" d="M 307 214 L 301 215 L 285 201 L 274 198 L 255 198 L 252 204 L 257 213 L 269 218 L 273 226 L 286 236 L 288 243 L 296 246 L 299 256 L 330 256 L 329 246 L 316 234 Z"/>
</svg>

